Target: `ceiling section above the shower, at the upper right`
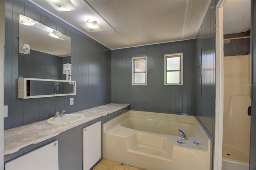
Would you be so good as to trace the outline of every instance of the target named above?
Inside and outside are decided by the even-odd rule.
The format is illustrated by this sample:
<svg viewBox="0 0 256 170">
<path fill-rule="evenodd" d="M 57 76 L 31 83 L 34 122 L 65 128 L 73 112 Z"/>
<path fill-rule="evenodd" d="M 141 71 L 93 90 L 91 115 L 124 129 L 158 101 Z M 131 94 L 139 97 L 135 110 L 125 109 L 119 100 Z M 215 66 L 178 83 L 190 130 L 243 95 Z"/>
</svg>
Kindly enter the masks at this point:
<svg viewBox="0 0 256 170">
<path fill-rule="evenodd" d="M 223 15 L 224 34 L 246 32 L 251 28 L 251 1 L 227 0 Z"/>
</svg>

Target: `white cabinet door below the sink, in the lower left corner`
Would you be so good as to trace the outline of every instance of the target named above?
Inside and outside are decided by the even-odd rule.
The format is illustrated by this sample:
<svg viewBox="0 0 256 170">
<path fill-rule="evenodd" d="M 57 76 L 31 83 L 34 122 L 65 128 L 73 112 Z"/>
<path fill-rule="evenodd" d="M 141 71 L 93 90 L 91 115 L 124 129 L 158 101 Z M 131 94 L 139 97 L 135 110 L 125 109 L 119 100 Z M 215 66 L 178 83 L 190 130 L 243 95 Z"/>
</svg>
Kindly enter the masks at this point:
<svg viewBox="0 0 256 170">
<path fill-rule="evenodd" d="M 5 170 L 58 170 L 58 141 L 5 163 Z"/>
</svg>

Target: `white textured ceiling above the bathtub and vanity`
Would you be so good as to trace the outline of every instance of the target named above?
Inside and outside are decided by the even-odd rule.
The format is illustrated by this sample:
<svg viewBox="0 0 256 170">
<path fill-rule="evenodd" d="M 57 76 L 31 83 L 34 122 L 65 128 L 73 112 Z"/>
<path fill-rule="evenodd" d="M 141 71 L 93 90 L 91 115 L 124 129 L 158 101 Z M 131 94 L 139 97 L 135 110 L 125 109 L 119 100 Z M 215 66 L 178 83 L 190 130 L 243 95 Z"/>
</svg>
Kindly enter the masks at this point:
<svg viewBox="0 0 256 170">
<path fill-rule="evenodd" d="M 71 0 L 77 10 L 56 12 L 44 0 L 30 0 L 110 49 L 193 39 L 209 0 Z M 79 23 L 96 20 L 101 32 Z"/>
</svg>

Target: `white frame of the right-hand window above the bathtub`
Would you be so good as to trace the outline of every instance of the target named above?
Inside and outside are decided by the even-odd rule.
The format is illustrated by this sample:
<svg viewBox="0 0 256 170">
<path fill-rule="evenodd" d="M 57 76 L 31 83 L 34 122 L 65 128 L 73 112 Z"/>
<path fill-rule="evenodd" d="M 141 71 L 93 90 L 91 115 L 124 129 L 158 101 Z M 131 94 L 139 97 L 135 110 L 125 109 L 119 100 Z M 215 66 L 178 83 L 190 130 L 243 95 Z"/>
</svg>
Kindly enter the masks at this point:
<svg viewBox="0 0 256 170">
<path fill-rule="evenodd" d="M 180 83 L 166 83 L 166 65 L 167 58 L 180 57 Z M 178 71 L 178 70 L 177 70 Z M 183 53 L 165 54 L 164 55 L 164 85 L 183 85 Z"/>
</svg>

